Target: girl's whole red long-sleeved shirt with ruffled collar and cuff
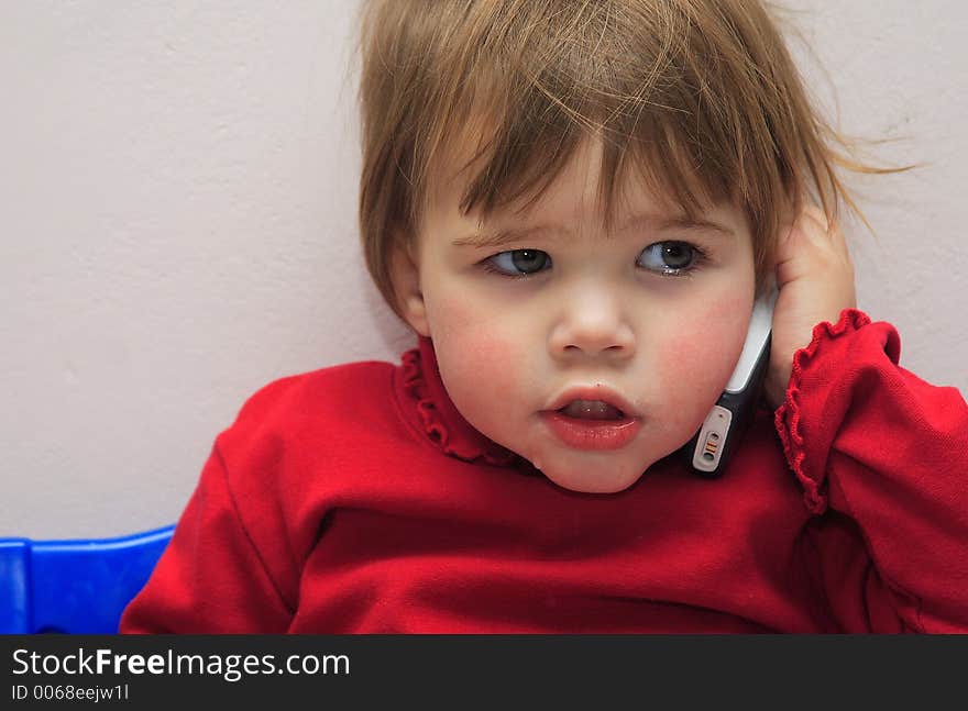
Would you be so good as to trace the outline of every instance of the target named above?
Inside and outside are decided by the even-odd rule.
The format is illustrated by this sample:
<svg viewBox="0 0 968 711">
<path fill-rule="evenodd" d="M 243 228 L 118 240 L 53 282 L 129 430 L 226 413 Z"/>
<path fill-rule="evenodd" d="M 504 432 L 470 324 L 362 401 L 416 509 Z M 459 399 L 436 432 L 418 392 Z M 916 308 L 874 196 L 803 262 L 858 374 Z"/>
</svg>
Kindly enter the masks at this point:
<svg viewBox="0 0 968 711">
<path fill-rule="evenodd" d="M 578 493 L 432 344 L 277 380 L 216 440 L 122 632 L 966 632 L 968 406 L 888 323 L 814 330 L 719 479 Z"/>
</svg>

